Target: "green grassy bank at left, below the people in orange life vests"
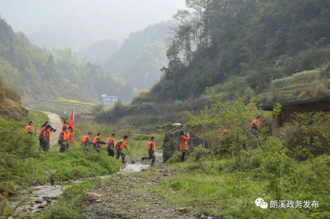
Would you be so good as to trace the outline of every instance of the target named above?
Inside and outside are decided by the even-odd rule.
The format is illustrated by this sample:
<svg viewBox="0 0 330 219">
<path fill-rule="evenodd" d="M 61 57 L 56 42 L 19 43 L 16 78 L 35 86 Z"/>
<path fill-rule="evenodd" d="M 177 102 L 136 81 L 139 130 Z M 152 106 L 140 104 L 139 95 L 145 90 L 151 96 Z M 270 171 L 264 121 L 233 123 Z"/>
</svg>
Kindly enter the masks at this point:
<svg viewBox="0 0 330 219">
<path fill-rule="evenodd" d="M 0 136 L 3 142 L 0 147 L 2 157 L 0 167 L 4 171 L 0 175 L 1 190 L 5 185 L 9 185 L 10 190 L 16 191 L 37 182 L 48 183 L 52 177 L 59 182 L 105 175 L 119 170 L 119 163 L 109 158 L 106 151 L 97 154 L 91 150 L 85 156 L 79 140 L 76 146 L 71 145 L 67 153 L 60 154 L 57 145 L 49 152 L 38 151 L 38 136 L 23 134 L 29 120 L 34 122 L 35 131 L 39 131 L 37 127 L 48 120 L 48 117 L 42 112 L 29 110 L 28 116 L 21 122 L 0 118 Z M 79 130 L 77 133 L 78 139 Z M 25 150 L 27 144 L 32 145 L 29 151 Z"/>
</svg>

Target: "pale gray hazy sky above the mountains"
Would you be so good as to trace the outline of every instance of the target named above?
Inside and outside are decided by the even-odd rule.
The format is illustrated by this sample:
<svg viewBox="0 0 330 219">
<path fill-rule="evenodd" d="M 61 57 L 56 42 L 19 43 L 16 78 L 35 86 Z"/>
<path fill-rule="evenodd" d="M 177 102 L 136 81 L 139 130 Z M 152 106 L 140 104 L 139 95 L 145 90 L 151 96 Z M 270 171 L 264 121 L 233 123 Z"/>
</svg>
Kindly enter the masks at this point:
<svg viewBox="0 0 330 219">
<path fill-rule="evenodd" d="M 103 39 L 120 43 L 185 8 L 185 0 L 0 0 L 1 16 L 14 31 L 39 46 L 74 50 Z"/>
</svg>

